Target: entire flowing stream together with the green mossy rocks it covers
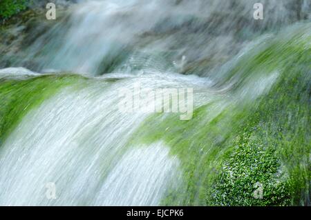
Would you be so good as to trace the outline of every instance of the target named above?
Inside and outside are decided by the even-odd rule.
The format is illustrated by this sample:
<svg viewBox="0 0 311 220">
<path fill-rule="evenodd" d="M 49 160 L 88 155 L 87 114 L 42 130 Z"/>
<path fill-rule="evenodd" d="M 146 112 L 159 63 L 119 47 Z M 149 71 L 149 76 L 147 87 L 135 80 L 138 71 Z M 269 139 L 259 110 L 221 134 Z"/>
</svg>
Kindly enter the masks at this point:
<svg viewBox="0 0 311 220">
<path fill-rule="evenodd" d="M 0 204 L 308 204 L 311 2 L 261 1 L 264 20 L 255 2 L 78 1 L 18 29 L 0 46 Z M 191 119 L 120 112 L 138 83 L 193 89 Z"/>
</svg>

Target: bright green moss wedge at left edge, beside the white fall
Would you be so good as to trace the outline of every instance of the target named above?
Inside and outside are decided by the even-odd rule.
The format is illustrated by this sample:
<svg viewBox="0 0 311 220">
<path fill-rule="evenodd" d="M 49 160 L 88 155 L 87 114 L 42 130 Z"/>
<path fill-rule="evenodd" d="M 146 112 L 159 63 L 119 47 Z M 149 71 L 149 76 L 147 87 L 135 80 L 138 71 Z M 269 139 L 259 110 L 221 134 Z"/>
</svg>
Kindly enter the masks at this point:
<svg viewBox="0 0 311 220">
<path fill-rule="evenodd" d="M 0 80 L 0 145 L 23 116 L 64 86 L 82 77 L 46 75 L 30 79 Z"/>
</svg>

